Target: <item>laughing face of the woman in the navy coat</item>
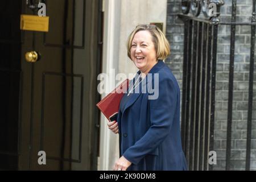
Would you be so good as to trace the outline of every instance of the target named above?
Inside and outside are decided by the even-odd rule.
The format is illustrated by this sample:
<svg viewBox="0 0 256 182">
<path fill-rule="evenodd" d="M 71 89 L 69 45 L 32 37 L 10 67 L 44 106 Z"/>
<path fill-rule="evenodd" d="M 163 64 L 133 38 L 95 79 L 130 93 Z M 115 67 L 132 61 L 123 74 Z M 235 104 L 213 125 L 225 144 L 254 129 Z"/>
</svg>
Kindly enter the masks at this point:
<svg viewBox="0 0 256 182">
<path fill-rule="evenodd" d="M 135 66 L 147 74 L 157 63 L 156 49 L 150 32 L 138 31 L 131 42 L 131 59 Z"/>
</svg>

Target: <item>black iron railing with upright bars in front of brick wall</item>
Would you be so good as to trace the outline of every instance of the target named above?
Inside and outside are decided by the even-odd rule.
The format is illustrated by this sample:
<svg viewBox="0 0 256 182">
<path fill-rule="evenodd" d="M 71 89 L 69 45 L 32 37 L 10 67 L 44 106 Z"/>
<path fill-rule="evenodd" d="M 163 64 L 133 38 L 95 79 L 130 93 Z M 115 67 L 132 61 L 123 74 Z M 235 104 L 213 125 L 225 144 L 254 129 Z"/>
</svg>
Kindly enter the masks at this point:
<svg viewBox="0 0 256 182">
<path fill-rule="evenodd" d="M 209 14 L 209 4 L 214 3 L 216 12 Z M 256 11 L 253 0 L 251 22 L 236 22 L 236 0 L 232 1 L 231 22 L 220 22 L 222 0 L 184 0 L 179 17 L 184 22 L 183 95 L 181 110 L 181 135 L 183 149 L 190 170 L 212 170 L 209 151 L 214 144 L 214 113 L 216 86 L 217 34 L 221 25 L 230 26 L 230 62 L 228 115 L 226 129 L 226 170 L 230 169 L 232 142 L 232 111 L 234 83 L 234 50 L 236 27 L 251 26 L 249 98 L 247 113 L 246 170 L 250 169 L 251 121 L 253 108 L 253 73 Z M 199 16 L 203 12 L 203 17 Z M 191 13 L 191 14 L 189 14 Z"/>
</svg>

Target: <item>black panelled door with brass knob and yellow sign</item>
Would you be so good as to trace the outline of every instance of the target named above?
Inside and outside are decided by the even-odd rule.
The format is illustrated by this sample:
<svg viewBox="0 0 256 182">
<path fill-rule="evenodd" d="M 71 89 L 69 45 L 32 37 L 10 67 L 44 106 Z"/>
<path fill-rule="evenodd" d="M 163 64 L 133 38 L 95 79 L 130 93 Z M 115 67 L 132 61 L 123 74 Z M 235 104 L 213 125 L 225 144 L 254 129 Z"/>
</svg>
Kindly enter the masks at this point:
<svg viewBox="0 0 256 182">
<path fill-rule="evenodd" d="M 0 168 L 96 169 L 100 1 L 41 1 L 49 31 L 21 31 L 38 2 L 0 5 Z"/>
</svg>

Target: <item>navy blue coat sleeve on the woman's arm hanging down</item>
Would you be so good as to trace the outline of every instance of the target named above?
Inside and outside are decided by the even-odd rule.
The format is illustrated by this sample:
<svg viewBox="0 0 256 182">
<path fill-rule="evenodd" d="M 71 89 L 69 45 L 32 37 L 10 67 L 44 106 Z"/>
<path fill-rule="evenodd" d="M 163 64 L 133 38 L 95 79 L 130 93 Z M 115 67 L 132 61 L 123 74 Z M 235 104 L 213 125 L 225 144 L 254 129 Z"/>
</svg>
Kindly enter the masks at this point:
<svg viewBox="0 0 256 182">
<path fill-rule="evenodd" d="M 171 78 L 159 81 L 159 97 L 149 100 L 151 126 L 141 139 L 123 153 L 131 163 L 138 164 L 170 134 L 177 105 L 177 90 L 177 85 Z"/>
</svg>

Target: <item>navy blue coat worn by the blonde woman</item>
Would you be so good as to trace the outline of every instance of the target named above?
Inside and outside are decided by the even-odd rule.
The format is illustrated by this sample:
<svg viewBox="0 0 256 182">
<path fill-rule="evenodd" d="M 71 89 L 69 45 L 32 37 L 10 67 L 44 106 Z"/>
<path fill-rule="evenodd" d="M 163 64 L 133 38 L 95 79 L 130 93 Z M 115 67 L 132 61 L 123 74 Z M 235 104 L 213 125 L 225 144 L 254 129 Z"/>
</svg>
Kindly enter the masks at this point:
<svg viewBox="0 0 256 182">
<path fill-rule="evenodd" d="M 158 73 L 158 98 L 150 100 L 152 93 L 140 89 L 128 96 L 123 109 L 121 101 L 117 118 L 120 156 L 132 163 L 127 170 L 187 170 L 181 147 L 179 85 L 162 60 L 149 73 Z M 154 88 L 154 75 L 145 82 Z"/>
</svg>

